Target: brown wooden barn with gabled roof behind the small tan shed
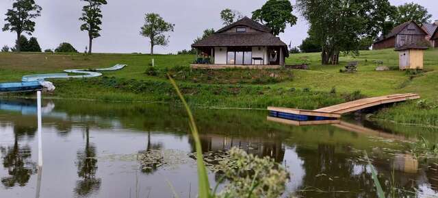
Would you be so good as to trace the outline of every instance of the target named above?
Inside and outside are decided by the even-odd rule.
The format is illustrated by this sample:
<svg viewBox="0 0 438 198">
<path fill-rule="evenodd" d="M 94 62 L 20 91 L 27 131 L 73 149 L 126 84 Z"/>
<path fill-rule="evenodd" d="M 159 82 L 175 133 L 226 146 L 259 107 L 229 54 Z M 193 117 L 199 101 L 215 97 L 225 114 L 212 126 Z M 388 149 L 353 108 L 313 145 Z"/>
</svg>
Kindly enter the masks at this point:
<svg viewBox="0 0 438 198">
<path fill-rule="evenodd" d="M 394 27 L 389 34 L 377 38 L 372 45 L 372 49 L 389 49 L 412 45 L 420 40 L 425 40 L 424 38 L 427 35 L 417 23 L 409 21 Z"/>
</svg>

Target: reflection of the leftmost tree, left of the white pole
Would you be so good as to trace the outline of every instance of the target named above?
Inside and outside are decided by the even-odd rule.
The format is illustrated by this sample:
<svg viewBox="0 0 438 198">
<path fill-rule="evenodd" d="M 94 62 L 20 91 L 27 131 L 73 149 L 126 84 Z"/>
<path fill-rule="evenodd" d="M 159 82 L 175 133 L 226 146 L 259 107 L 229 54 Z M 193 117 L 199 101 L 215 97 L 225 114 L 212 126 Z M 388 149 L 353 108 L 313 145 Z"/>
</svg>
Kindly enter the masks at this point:
<svg viewBox="0 0 438 198">
<path fill-rule="evenodd" d="M 3 157 L 3 167 L 8 169 L 10 176 L 2 177 L 1 183 L 6 188 L 26 186 L 30 176 L 37 172 L 36 163 L 31 162 L 31 148 L 21 147 L 18 140 L 24 136 L 35 136 L 36 127 L 14 126 L 14 145 L 12 147 L 0 147 Z"/>
</svg>

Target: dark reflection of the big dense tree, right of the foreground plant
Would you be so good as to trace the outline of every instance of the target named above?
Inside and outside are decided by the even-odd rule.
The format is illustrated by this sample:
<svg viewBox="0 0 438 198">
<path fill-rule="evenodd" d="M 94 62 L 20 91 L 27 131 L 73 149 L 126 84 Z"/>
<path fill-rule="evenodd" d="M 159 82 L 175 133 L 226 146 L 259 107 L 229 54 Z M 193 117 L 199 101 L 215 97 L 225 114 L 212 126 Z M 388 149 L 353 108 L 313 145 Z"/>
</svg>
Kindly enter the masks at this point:
<svg viewBox="0 0 438 198">
<path fill-rule="evenodd" d="M 370 193 L 374 192 L 374 184 L 366 171 L 367 164 L 353 162 L 344 152 L 336 153 L 336 147 L 318 145 L 318 149 L 296 149 L 306 173 L 302 187 L 309 190 L 302 193 L 303 197 L 376 197 Z"/>
</svg>

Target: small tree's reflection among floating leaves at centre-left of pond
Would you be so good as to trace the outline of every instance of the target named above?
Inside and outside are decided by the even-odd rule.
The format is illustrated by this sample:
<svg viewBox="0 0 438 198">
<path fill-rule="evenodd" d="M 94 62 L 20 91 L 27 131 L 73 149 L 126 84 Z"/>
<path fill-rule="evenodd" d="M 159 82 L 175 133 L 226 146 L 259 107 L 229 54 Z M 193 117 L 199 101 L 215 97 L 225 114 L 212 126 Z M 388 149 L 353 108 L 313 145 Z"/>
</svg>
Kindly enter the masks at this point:
<svg viewBox="0 0 438 198">
<path fill-rule="evenodd" d="M 161 151 L 162 144 L 151 142 L 151 132 L 148 132 L 148 140 L 146 142 L 146 150 L 138 151 L 141 162 L 140 166 L 142 173 L 151 174 L 157 171 L 159 164 L 162 163 Z"/>
</svg>

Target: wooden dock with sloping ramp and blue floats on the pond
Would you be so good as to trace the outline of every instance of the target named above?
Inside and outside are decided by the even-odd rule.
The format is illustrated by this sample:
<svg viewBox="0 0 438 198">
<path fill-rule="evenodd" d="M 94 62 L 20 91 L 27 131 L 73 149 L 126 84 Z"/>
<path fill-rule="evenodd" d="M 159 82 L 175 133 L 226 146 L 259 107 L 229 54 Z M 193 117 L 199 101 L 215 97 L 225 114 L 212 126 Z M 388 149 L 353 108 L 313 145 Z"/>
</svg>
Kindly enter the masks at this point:
<svg viewBox="0 0 438 198">
<path fill-rule="evenodd" d="M 292 108 L 268 107 L 271 117 L 280 119 L 289 119 L 294 121 L 330 121 L 340 119 L 342 114 L 363 110 L 373 106 L 379 106 L 386 103 L 396 103 L 411 99 L 420 99 L 420 95 L 415 93 L 387 95 L 382 97 L 371 97 L 341 103 L 335 106 L 320 108 L 317 110 L 298 110 Z"/>
</svg>

